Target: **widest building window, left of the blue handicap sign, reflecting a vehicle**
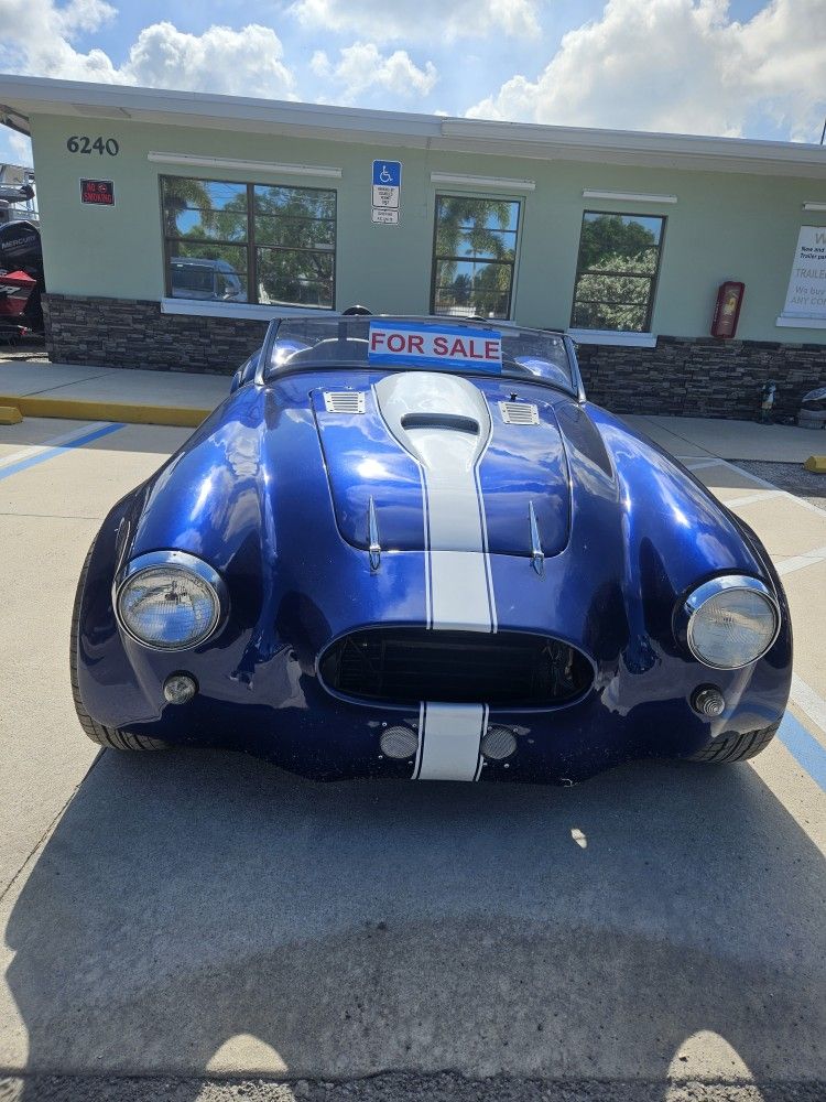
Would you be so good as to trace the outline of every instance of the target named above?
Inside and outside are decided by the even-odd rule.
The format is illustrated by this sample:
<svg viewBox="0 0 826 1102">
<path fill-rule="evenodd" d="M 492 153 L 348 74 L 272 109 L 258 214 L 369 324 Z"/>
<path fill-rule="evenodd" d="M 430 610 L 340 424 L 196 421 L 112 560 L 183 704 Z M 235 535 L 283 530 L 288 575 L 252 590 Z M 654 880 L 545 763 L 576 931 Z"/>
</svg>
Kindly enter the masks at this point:
<svg viewBox="0 0 826 1102">
<path fill-rule="evenodd" d="M 336 193 L 161 176 L 166 293 L 333 309 Z"/>
</svg>

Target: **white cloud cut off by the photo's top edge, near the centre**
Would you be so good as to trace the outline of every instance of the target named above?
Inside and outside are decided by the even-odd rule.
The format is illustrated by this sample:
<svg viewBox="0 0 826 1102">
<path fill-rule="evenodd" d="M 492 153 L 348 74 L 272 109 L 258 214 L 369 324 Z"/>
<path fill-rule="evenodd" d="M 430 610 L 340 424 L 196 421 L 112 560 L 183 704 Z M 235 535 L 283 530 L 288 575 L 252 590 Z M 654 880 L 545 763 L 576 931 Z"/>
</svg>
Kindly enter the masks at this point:
<svg viewBox="0 0 826 1102">
<path fill-rule="evenodd" d="M 295 0 L 290 11 L 305 26 L 327 31 L 368 31 L 377 42 L 525 37 L 540 33 L 541 0 Z"/>
</svg>

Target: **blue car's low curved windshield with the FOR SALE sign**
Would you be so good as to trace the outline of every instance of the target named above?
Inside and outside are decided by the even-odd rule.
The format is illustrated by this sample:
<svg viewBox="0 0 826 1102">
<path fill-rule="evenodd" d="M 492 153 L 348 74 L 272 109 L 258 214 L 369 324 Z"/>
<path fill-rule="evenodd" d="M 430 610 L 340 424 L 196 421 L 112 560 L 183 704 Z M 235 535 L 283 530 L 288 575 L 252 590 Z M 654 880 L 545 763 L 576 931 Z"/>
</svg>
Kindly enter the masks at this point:
<svg viewBox="0 0 826 1102">
<path fill-rule="evenodd" d="M 313 367 L 376 367 L 533 377 L 575 390 L 556 333 L 438 317 L 285 317 L 267 376 Z"/>
</svg>

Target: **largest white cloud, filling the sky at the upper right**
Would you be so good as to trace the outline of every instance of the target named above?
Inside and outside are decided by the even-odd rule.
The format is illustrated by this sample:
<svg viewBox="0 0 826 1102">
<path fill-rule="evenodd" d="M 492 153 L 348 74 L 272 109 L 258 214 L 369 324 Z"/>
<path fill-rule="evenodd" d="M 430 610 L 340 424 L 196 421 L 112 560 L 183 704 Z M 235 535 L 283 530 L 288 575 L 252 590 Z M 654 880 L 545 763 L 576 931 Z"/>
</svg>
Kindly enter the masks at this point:
<svg viewBox="0 0 826 1102">
<path fill-rule="evenodd" d="M 740 136 L 768 116 L 816 141 L 826 111 L 826 2 L 771 0 L 732 21 L 728 0 L 608 0 L 566 34 L 536 80 L 517 74 L 472 118 Z"/>
</svg>

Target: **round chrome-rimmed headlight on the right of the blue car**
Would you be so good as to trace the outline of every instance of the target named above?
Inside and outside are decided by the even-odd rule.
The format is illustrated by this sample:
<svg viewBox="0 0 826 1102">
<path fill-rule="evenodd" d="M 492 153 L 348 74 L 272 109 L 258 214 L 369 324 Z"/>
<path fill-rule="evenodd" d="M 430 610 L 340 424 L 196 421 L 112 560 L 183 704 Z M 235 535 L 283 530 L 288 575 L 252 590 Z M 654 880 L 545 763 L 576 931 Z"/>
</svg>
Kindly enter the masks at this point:
<svg viewBox="0 0 826 1102">
<path fill-rule="evenodd" d="M 718 577 L 686 602 L 687 638 L 694 657 L 716 670 L 738 670 L 769 650 L 780 613 L 765 586 L 751 577 Z"/>
</svg>

